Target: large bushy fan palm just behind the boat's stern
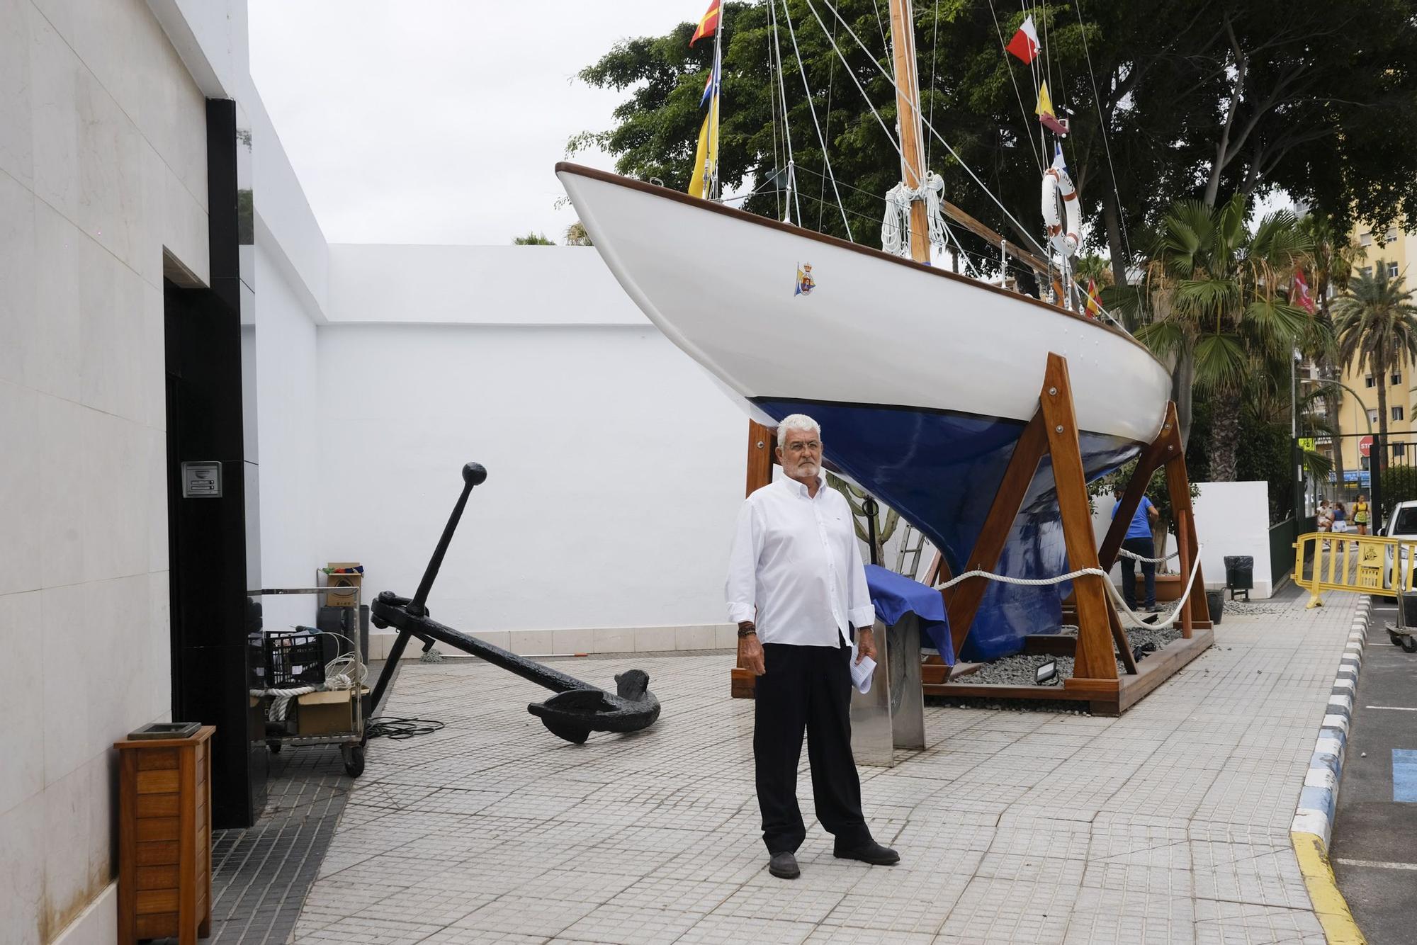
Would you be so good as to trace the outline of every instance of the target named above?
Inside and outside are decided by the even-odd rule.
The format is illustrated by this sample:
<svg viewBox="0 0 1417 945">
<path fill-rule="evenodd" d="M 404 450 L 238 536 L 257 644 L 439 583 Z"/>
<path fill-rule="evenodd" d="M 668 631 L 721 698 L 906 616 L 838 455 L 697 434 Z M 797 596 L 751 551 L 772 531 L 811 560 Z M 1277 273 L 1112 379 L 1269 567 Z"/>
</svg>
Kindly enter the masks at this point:
<svg viewBox="0 0 1417 945">
<path fill-rule="evenodd" d="M 1216 208 L 1196 200 L 1172 204 L 1148 262 L 1151 320 L 1136 333 L 1173 360 L 1172 395 L 1185 432 L 1192 388 L 1209 395 L 1210 477 L 1219 482 L 1236 479 L 1246 385 L 1267 368 L 1280 370 L 1288 384 L 1294 346 L 1321 330 L 1288 299 L 1294 268 L 1312 249 L 1297 217 L 1280 210 L 1251 231 L 1247 215 L 1243 194 Z"/>
</svg>

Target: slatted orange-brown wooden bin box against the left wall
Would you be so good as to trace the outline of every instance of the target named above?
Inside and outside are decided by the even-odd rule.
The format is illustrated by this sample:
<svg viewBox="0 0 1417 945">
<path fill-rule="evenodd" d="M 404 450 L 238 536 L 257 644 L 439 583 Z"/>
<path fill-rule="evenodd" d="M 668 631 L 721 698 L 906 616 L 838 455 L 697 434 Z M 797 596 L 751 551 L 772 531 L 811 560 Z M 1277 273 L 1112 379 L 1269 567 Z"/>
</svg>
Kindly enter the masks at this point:
<svg viewBox="0 0 1417 945">
<path fill-rule="evenodd" d="M 118 941 L 211 932 L 211 735 L 125 740 L 118 788 Z"/>
</svg>

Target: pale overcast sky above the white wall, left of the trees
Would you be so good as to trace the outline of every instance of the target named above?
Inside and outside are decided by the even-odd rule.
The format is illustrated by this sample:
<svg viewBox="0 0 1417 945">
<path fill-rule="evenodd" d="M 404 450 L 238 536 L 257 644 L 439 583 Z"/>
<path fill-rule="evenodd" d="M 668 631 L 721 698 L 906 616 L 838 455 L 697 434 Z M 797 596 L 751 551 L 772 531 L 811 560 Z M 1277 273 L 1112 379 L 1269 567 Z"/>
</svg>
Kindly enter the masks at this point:
<svg viewBox="0 0 1417 945">
<path fill-rule="evenodd" d="M 251 75 L 330 242 L 561 242 L 555 162 L 622 98 L 572 77 L 707 6 L 251 0 Z"/>
</svg>

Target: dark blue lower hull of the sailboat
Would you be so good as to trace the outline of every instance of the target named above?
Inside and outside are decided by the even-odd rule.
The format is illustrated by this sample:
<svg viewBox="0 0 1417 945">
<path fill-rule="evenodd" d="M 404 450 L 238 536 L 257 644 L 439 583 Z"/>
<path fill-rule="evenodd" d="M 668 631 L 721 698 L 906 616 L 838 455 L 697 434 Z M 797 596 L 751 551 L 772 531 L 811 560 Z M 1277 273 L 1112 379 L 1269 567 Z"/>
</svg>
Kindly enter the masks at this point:
<svg viewBox="0 0 1417 945">
<path fill-rule="evenodd" d="M 822 425 L 826 456 L 842 472 L 920 528 L 955 574 L 983 528 L 1022 421 L 873 404 L 752 398 L 768 417 L 808 414 Z M 1088 480 L 1136 456 L 1142 443 L 1083 432 Z M 1044 455 L 1029 486 L 998 574 L 1049 578 L 1071 568 L 1063 543 L 1051 463 Z M 959 659 L 992 660 L 1023 649 L 1029 633 L 1057 633 L 1071 582 L 1023 587 L 992 581 Z"/>
</svg>

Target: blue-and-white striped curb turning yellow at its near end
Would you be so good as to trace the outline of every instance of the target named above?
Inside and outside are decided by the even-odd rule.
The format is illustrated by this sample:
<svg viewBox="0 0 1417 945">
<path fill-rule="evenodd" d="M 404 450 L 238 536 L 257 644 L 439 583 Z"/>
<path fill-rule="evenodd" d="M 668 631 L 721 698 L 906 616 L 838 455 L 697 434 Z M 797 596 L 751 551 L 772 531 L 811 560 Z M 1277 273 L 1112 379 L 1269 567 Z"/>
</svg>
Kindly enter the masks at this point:
<svg viewBox="0 0 1417 945">
<path fill-rule="evenodd" d="M 1363 643 L 1367 640 L 1372 616 L 1373 599 L 1365 595 L 1357 604 L 1357 613 L 1353 615 L 1348 646 L 1343 647 L 1338 676 L 1333 677 L 1328 710 L 1319 724 L 1319 737 L 1314 742 L 1309 769 L 1304 775 L 1304 789 L 1299 791 L 1299 803 L 1289 825 L 1289 842 L 1294 844 L 1304 885 L 1308 887 L 1323 934 L 1331 944 L 1343 945 L 1365 945 L 1367 939 L 1359 931 L 1333 880 L 1328 846 L 1333 834 L 1333 812 L 1338 805 L 1339 778 L 1343 774 L 1343 748 L 1348 744 L 1357 673 L 1363 666 Z"/>
</svg>

